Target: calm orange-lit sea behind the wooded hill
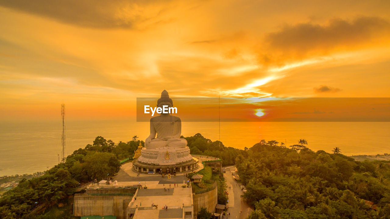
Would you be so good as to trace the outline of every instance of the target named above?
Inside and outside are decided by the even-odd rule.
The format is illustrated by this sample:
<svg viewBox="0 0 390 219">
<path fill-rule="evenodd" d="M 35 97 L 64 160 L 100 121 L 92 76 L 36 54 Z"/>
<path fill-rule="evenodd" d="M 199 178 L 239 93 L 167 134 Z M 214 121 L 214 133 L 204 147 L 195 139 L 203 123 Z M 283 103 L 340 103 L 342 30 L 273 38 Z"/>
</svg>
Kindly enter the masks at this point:
<svg viewBox="0 0 390 219">
<path fill-rule="evenodd" d="M 0 123 L 0 176 L 48 170 L 62 152 L 62 121 L 7 121 Z M 345 155 L 390 154 L 390 122 L 183 122 L 182 135 L 201 133 L 226 147 L 252 147 L 264 139 L 287 146 L 304 138 L 314 151 L 339 147 Z M 66 121 L 66 155 L 92 144 L 96 136 L 106 140 L 145 140 L 148 122 L 135 120 Z"/>
</svg>

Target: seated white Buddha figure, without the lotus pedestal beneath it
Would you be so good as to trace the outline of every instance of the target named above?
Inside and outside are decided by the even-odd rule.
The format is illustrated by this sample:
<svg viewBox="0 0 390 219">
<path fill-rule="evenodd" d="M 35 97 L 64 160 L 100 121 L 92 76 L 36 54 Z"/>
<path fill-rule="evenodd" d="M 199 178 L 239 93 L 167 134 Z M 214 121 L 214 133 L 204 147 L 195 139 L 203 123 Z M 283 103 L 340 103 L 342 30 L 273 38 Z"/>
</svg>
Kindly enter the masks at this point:
<svg viewBox="0 0 390 219">
<path fill-rule="evenodd" d="M 158 107 L 173 107 L 173 101 L 169 98 L 168 92 L 163 90 L 161 97 L 157 101 Z M 157 137 L 156 137 L 157 134 Z M 184 148 L 187 141 L 181 136 L 181 120 L 179 117 L 161 113 L 157 117 L 150 119 L 150 135 L 145 140 L 145 148 L 174 147 Z"/>
</svg>

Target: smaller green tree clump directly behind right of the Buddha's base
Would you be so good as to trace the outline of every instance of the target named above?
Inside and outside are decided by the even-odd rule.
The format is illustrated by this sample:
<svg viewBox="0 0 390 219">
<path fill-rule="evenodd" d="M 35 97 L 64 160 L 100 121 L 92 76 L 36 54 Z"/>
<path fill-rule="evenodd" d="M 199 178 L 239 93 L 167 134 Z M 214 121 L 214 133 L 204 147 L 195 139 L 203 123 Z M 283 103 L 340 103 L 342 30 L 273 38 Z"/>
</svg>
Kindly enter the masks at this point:
<svg viewBox="0 0 390 219">
<path fill-rule="evenodd" d="M 181 136 L 181 138 L 184 138 Z M 185 137 L 190 147 L 191 154 L 207 155 L 222 159 L 222 165 L 234 165 L 238 155 L 247 156 L 247 152 L 232 147 L 225 147 L 220 141 L 211 141 L 197 133 L 191 137 Z"/>
</svg>

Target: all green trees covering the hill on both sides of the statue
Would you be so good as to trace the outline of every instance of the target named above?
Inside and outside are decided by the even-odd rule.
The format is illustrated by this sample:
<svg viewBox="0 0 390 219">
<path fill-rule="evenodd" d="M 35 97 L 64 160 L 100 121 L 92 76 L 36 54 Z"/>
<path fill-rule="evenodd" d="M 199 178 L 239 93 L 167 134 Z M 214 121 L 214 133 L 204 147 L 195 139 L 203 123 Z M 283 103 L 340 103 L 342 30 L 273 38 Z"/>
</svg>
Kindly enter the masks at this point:
<svg viewBox="0 0 390 219">
<path fill-rule="evenodd" d="M 291 149 L 262 140 L 240 150 L 199 133 L 185 139 L 191 154 L 219 157 L 224 166 L 236 164 L 247 189 L 243 198 L 255 208 L 249 219 L 390 219 L 390 161 L 355 161 L 342 155 L 340 148 L 333 154 L 313 152 L 306 140 Z M 4 193 L 0 218 L 25 218 L 43 203 L 48 206 L 46 214 L 30 218 L 75 218 L 69 207 L 75 188 L 113 176 L 119 160 L 132 157 L 140 143 L 144 145 L 137 136 L 117 144 L 96 137 L 92 145 L 75 150 L 43 176 L 23 179 Z M 210 174 L 204 175 L 206 180 Z M 218 184 L 218 203 L 226 203 L 223 178 Z M 64 207 L 54 207 L 57 204 Z"/>
</svg>

